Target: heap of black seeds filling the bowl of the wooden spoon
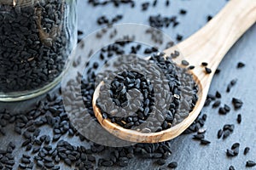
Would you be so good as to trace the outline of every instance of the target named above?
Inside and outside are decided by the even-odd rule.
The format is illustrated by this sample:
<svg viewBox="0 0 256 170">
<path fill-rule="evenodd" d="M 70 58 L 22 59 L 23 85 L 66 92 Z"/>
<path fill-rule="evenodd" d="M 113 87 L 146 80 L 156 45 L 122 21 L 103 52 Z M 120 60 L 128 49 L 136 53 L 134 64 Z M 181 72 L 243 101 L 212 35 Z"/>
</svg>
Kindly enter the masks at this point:
<svg viewBox="0 0 256 170">
<path fill-rule="evenodd" d="M 186 69 L 177 68 L 161 53 L 148 61 L 121 60 L 115 65 L 122 72 L 104 71 L 101 75 L 105 79 L 97 105 L 103 118 L 121 127 L 151 133 L 170 128 L 189 116 L 198 88 Z"/>
</svg>

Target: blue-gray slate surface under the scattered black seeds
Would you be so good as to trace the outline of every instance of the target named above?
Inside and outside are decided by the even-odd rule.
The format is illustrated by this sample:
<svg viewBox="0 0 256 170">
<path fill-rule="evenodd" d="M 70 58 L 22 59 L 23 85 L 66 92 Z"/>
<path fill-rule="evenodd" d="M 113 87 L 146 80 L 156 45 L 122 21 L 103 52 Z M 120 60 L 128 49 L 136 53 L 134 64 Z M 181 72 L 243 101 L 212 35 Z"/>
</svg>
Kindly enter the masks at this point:
<svg viewBox="0 0 256 170">
<path fill-rule="evenodd" d="M 252 0 L 254 1 L 254 0 Z M 148 11 L 141 12 L 140 3 L 144 1 L 137 0 L 136 8 L 128 8 L 125 5 L 119 8 L 113 8 L 112 5 L 106 7 L 92 8 L 87 4 L 85 0 L 79 0 L 79 30 L 84 31 L 85 35 L 90 34 L 92 31 L 101 28 L 96 25 L 96 19 L 102 14 L 108 14 L 110 18 L 116 14 L 125 14 L 124 19 L 119 23 L 138 23 L 148 24 L 148 16 L 150 14 L 162 14 L 173 15 L 178 14 L 180 8 L 188 9 L 186 15 L 178 17 L 180 25 L 175 29 L 170 26 L 163 31 L 175 39 L 176 34 L 180 33 L 183 38 L 189 37 L 195 31 L 204 26 L 207 22 L 207 14 L 217 14 L 218 11 L 224 7 L 225 0 L 180 0 L 172 1 L 169 8 L 166 8 L 164 1 L 159 0 L 157 8 L 148 8 Z M 231 14 L 231 11 L 230 11 Z M 206 139 L 211 140 L 212 144 L 207 146 L 201 146 L 198 142 L 192 140 L 192 135 L 182 135 L 177 139 L 172 140 L 172 156 L 168 158 L 167 162 L 177 161 L 177 170 L 222 170 L 228 169 L 230 165 L 236 167 L 236 169 L 256 169 L 246 168 L 245 164 L 247 160 L 256 161 L 256 120 L 255 120 L 255 91 L 256 91 L 256 78 L 254 76 L 256 69 L 256 26 L 254 25 L 247 33 L 236 42 L 235 46 L 230 49 L 230 52 L 225 56 L 222 63 L 219 65 L 221 70 L 220 74 L 215 76 L 212 80 L 212 86 L 210 88 L 210 94 L 215 94 L 218 89 L 222 93 L 222 105 L 224 103 L 231 105 L 232 97 L 242 99 L 244 105 L 241 110 L 234 111 L 233 107 L 230 113 L 226 116 L 219 116 L 218 109 L 212 109 L 207 107 L 203 109 L 203 113 L 206 113 L 208 118 L 205 124 L 207 127 Z M 236 69 L 236 64 L 242 61 L 246 64 L 246 67 Z M 232 88 L 229 94 L 225 93 L 225 89 L 230 80 L 238 78 L 236 87 Z M 20 110 L 20 108 L 29 106 L 32 101 L 21 102 L 20 104 L 0 104 L 1 108 L 11 106 L 14 110 Z M 242 122 L 241 125 L 236 123 L 236 115 L 241 113 Z M 218 129 L 222 128 L 225 123 L 234 123 L 235 131 L 230 135 L 228 139 L 217 139 Z M 47 132 L 47 129 L 43 131 Z M 43 134 L 41 133 L 41 134 Z M 20 144 L 20 136 L 10 134 L 0 138 L 0 148 L 5 147 L 9 141 L 12 140 L 15 144 Z M 69 140 L 73 144 L 79 144 L 76 138 Z M 225 150 L 231 147 L 231 144 L 239 142 L 241 143 L 241 152 L 244 147 L 251 147 L 247 156 L 243 156 L 242 153 L 234 158 L 227 158 Z M 19 159 L 22 154 L 22 150 L 15 150 L 16 160 Z M 154 166 L 152 160 L 138 160 L 134 159 L 130 161 L 129 167 L 123 169 L 158 169 Z M 15 164 L 18 165 L 18 162 Z M 62 167 L 62 169 L 69 169 L 68 167 Z M 101 168 L 102 169 L 102 168 Z M 113 169 L 110 167 L 108 169 Z M 120 169 L 120 168 L 116 168 Z"/>
</svg>

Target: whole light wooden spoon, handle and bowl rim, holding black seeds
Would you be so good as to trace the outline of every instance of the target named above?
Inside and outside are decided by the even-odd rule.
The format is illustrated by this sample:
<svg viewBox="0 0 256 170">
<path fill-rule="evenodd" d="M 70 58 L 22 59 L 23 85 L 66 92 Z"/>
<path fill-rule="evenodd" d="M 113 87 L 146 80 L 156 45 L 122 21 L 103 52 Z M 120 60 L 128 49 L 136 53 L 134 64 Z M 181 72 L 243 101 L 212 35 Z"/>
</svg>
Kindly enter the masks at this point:
<svg viewBox="0 0 256 170">
<path fill-rule="evenodd" d="M 177 47 L 183 59 L 189 61 L 190 65 L 195 65 L 192 74 L 199 86 L 199 99 L 193 111 L 183 122 L 160 131 L 158 133 L 141 133 L 131 129 L 125 129 L 119 125 L 103 119 L 99 108 L 96 107 L 96 99 L 102 82 L 96 87 L 93 96 L 93 110 L 97 120 L 102 127 L 109 133 L 119 137 L 119 139 L 129 140 L 140 143 L 157 143 L 173 139 L 189 127 L 199 115 L 205 100 L 207 99 L 208 89 L 210 87 L 213 73 L 216 71 L 218 64 L 224 58 L 231 46 L 238 40 L 241 35 L 256 21 L 256 1 L 255 0 L 230 0 L 229 3 L 210 21 L 206 26 L 197 31 L 194 35 L 183 42 L 177 44 Z M 173 48 L 164 51 L 170 55 Z M 181 59 L 173 59 L 179 64 Z M 207 67 L 212 69 L 212 74 L 206 74 L 201 62 L 207 62 Z"/>
</svg>

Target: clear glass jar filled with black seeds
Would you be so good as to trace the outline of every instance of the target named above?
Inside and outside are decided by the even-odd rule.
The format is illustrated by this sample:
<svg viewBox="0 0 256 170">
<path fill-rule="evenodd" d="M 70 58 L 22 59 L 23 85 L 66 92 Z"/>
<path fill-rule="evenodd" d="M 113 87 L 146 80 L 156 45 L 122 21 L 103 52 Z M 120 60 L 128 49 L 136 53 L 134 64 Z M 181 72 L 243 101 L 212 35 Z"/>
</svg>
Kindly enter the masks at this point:
<svg viewBox="0 0 256 170">
<path fill-rule="evenodd" d="M 0 100 L 44 94 L 77 42 L 77 0 L 0 0 Z"/>
</svg>

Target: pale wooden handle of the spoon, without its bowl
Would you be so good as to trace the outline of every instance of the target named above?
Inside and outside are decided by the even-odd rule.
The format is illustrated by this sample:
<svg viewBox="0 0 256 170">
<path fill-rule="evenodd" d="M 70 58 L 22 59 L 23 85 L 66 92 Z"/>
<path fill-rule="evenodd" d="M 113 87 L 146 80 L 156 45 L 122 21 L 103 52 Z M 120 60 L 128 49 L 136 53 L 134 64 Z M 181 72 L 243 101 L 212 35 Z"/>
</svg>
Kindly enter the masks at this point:
<svg viewBox="0 0 256 170">
<path fill-rule="evenodd" d="M 198 66 L 204 61 L 214 72 L 232 45 L 255 21 L 256 0 L 230 0 L 206 26 L 177 44 L 177 48 L 190 65 Z M 165 52 L 170 54 L 172 49 Z M 201 74 L 201 70 L 195 69 L 195 74 Z"/>
</svg>

